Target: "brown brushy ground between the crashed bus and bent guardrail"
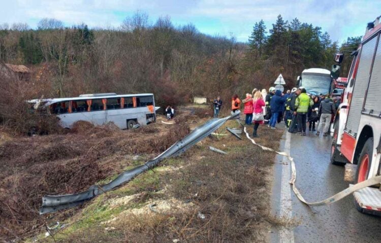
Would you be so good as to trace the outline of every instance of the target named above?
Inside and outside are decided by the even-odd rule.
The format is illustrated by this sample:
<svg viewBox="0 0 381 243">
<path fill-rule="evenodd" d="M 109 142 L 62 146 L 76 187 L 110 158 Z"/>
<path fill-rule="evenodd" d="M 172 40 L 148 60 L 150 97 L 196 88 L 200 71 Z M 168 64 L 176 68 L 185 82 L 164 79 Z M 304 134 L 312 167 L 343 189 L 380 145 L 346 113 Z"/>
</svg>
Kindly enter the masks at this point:
<svg viewBox="0 0 381 243">
<path fill-rule="evenodd" d="M 43 195 L 79 192 L 133 165 L 132 155 L 153 157 L 189 132 L 179 117 L 171 126 L 136 130 L 78 122 L 68 134 L 11 137 L 0 141 L 0 239 L 39 230 Z"/>
</svg>

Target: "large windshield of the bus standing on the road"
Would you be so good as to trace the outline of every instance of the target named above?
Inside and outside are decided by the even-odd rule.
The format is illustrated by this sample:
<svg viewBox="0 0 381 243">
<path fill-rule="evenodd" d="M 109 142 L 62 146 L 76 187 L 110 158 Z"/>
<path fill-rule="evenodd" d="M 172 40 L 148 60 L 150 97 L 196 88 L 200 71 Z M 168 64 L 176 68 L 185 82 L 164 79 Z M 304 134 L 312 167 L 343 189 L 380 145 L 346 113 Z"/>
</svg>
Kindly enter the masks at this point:
<svg viewBox="0 0 381 243">
<path fill-rule="evenodd" d="M 331 77 L 329 75 L 302 74 L 301 86 L 310 94 L 327 94 L 331 87 Z"/>
</svg>

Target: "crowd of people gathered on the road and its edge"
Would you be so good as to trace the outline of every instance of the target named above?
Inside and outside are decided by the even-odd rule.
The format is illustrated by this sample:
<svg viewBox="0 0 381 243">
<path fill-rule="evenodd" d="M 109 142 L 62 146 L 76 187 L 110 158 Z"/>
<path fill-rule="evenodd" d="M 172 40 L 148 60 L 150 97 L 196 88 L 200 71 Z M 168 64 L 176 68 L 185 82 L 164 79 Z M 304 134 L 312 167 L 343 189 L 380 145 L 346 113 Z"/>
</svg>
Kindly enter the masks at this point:
<svg viewBox="0 0 381 243">
<path fill-rule="evenodd" d="M 327 136 L 331 125 L 332 116 L 336 113 L 336 107 L 330 94 L 310 95 L 303 87 L 293 88 L 282 93 L 274 87 L 259 91 L 254 89 L 252 93 L 246 93 L 246 97 L 239 99 L 235 94 L 232 97 L 232 112 L 241 109 L 243 103 L 243 114 L 245 114 L 245 124 L 253 124 L 252 136 L 258 137 L 260 124 L 268 124 L 271 129 L 276 129 L 276 124 L 282 120 L 288 132 L 306 135 L 307 122 L 311 132 L 316 131 L 316 135 L 323 132 Z M 214 118 L 218 118 L 223 101 L 218 96 L 214 99 Z"/>
</svg>

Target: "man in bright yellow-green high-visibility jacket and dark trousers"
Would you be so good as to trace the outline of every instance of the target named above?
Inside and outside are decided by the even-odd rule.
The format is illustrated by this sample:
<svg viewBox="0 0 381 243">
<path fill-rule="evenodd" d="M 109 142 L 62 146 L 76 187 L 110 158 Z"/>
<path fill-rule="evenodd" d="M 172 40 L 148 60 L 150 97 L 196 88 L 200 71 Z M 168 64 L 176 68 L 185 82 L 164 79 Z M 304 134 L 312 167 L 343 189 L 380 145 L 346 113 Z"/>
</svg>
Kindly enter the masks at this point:
<svg viewBox="0 0 381 243">
<path fill-rule="evenodd" d="M 306 135 L 307 112 L 313 105 L 313 100 L 306 93 L 306 89 L 302 89 L 301 94 L 296 98 L 295 108 L 298 120 L 298 130 L 302 136 Z"/>
</svg>

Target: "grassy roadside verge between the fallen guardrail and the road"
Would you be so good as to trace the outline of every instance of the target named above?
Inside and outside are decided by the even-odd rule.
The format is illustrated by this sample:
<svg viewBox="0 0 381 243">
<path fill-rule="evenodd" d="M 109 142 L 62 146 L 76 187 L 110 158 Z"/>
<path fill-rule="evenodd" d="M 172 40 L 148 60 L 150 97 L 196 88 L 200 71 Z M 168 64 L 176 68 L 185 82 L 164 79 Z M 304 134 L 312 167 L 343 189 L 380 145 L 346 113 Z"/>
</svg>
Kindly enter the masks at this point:
<svg viewBox="0 0 381 243">
<path fill-rule="evenodd" d="M 282 132 L 260 129 L 257 142 L 277 149 Z M 97 197 L 68 220 L 70 226 L 44 240 L 266 242 L 270 225 L 283 224 L 268 214 L 268 175 L 274 154 L 241 137 L 241 141 L 230 134 L 205 138 L 183 155 L 166 159 L 125 186 Z M 215 153 L 208 146 L 228 154 Z M 113 201 L 120 204 L 111 206 Z M 152 210 L 152 205 L 161 212 Z"/>
</svg>

